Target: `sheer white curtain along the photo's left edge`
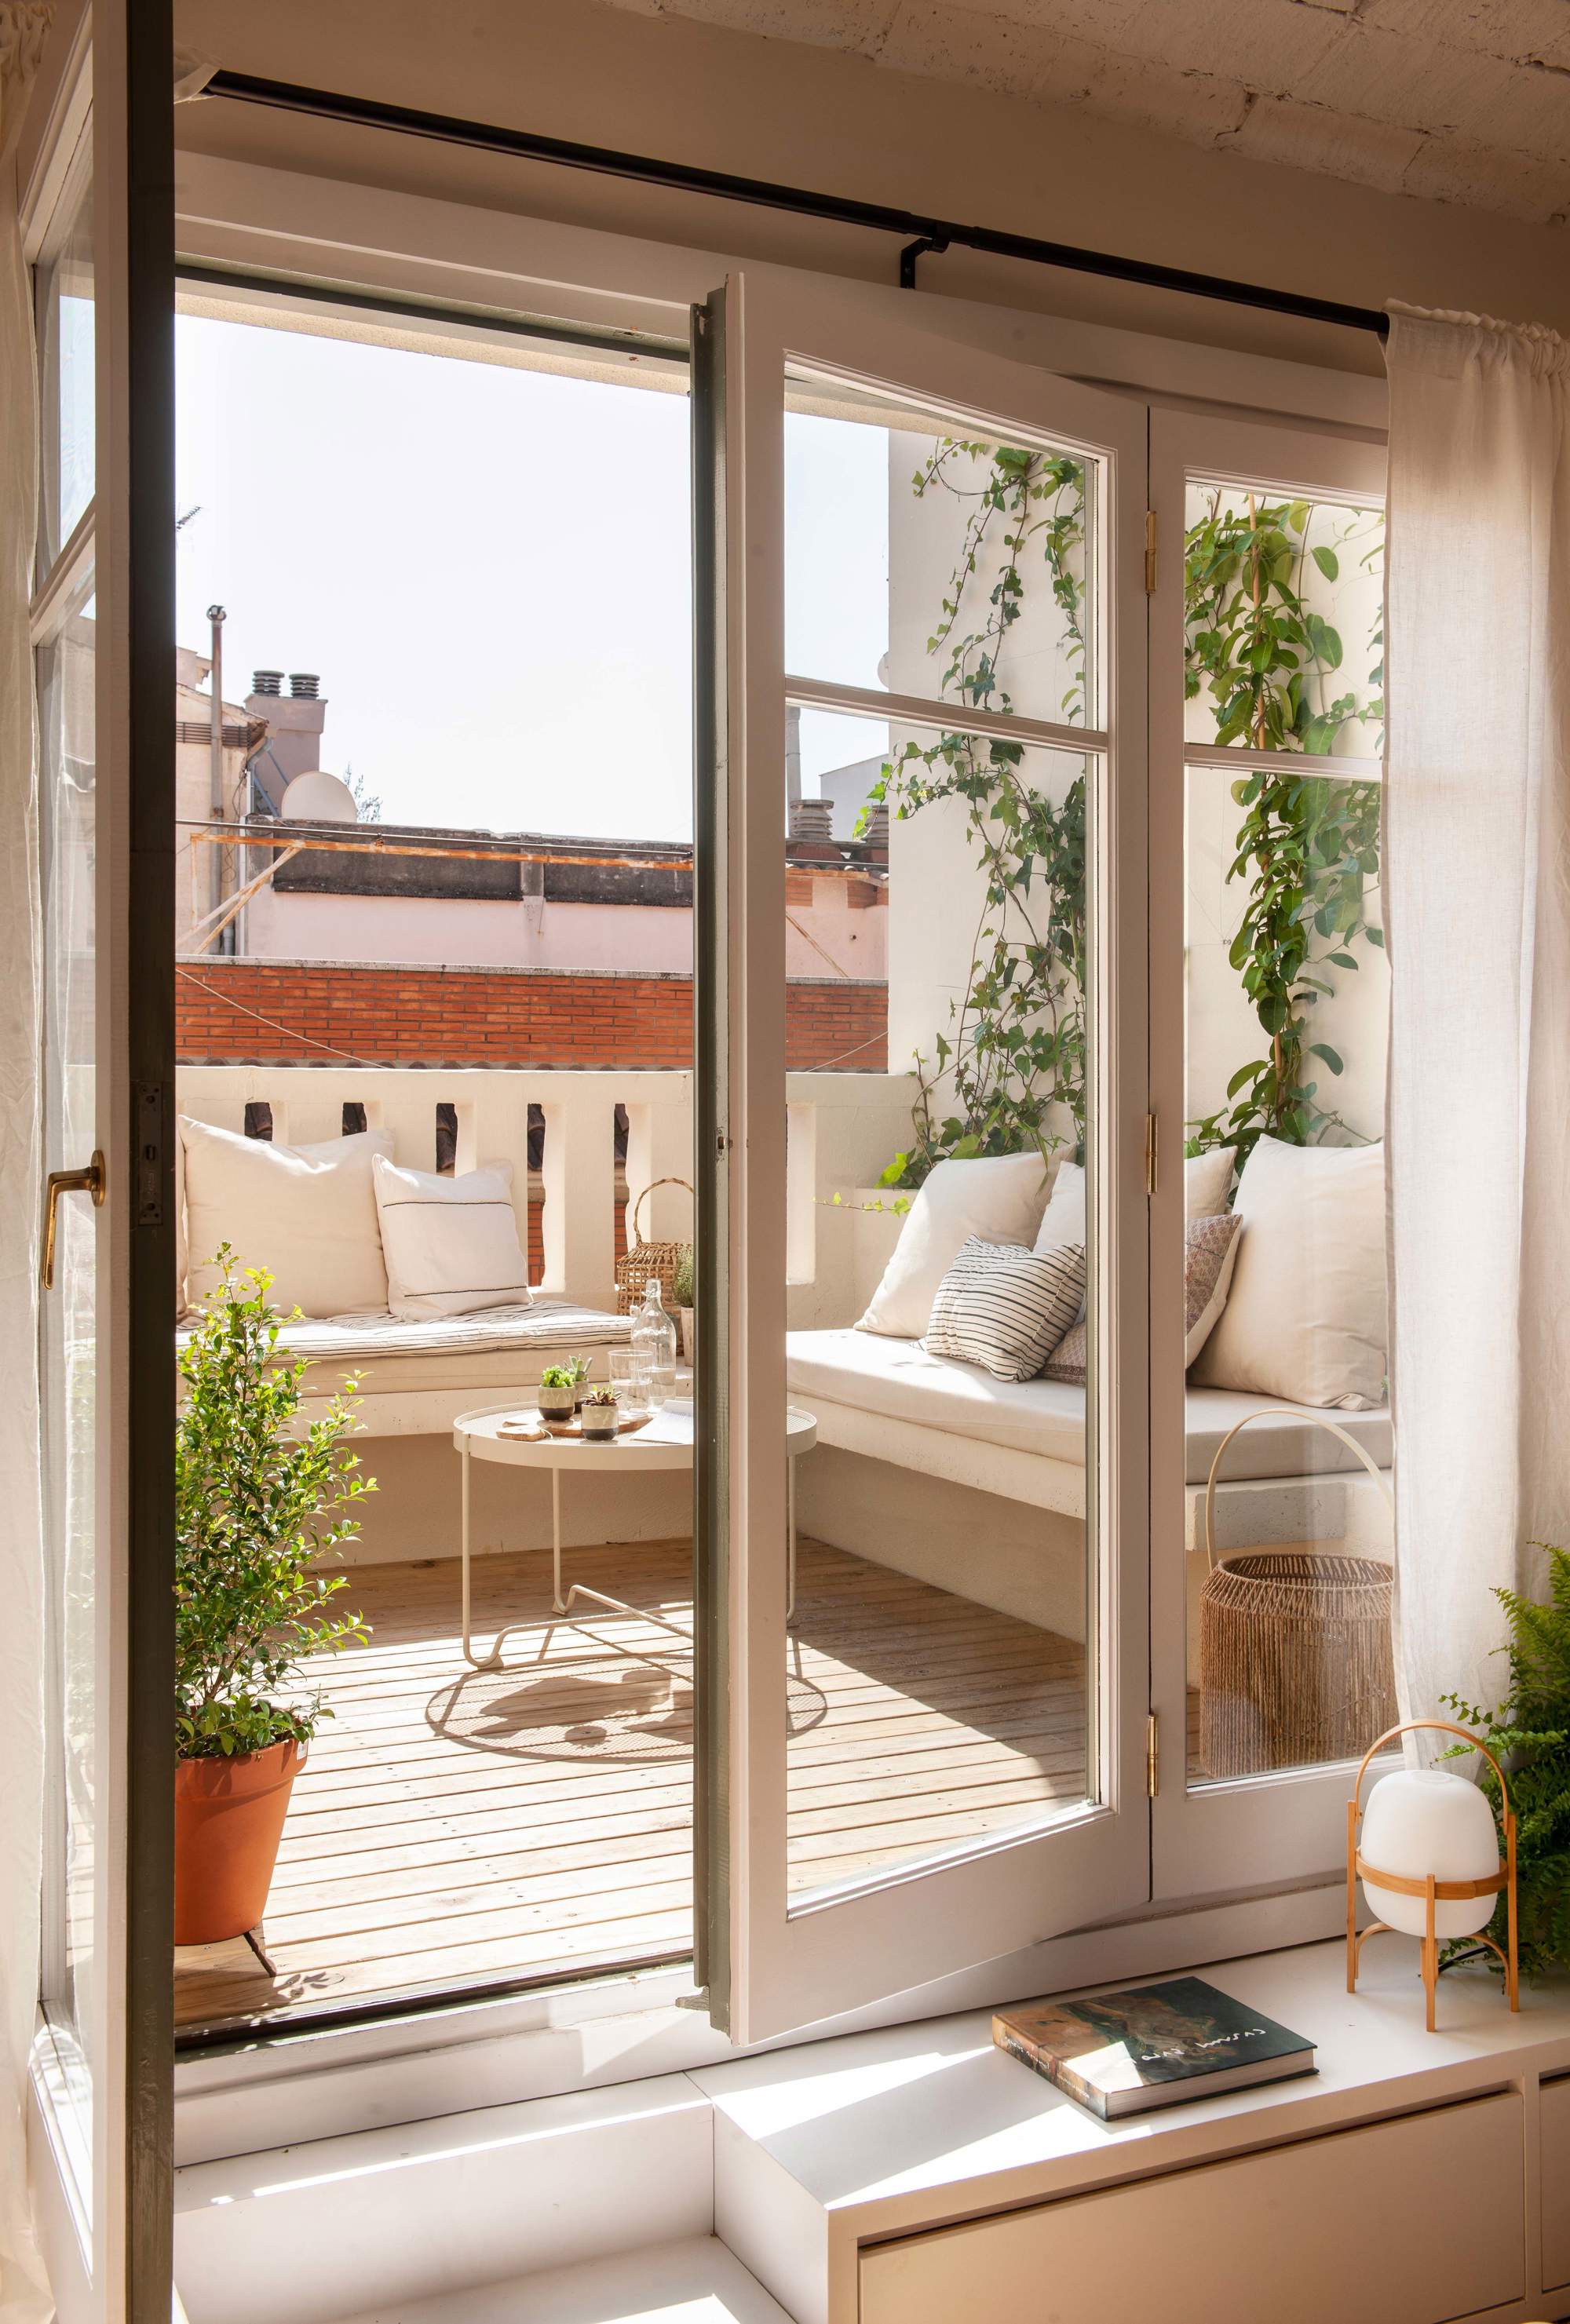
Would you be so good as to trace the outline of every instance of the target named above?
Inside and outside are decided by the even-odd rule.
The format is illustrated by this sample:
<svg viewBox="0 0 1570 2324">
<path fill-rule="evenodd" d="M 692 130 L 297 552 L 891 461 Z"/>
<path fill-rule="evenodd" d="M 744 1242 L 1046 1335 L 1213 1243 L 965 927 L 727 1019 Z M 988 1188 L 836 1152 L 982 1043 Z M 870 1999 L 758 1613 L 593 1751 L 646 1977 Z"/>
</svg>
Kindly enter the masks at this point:
<svg viewBox="0 0 1570 2324">
<path fill-rule="evenodd" d="M 33 309 L 14 130 L 47 9 L 0 0 L 0 2317 L 51 2315 L 28 2222 L 37 2013 L 44 1604 L 37 1473 L 37 772 L 28 590 L 37 509 Z"/>
</svg>

